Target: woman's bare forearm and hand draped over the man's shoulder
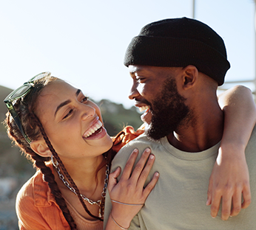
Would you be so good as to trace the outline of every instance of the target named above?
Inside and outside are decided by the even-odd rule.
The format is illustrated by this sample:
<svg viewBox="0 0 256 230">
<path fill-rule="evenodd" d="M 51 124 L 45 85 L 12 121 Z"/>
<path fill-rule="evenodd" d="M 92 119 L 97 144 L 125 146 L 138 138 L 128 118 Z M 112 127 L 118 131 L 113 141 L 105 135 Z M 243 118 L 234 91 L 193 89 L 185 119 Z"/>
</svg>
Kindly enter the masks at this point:
<svg viewBox="0 0 256 230">
<path fill-rule="evenodd" d="M 218 158 L 209 179 L 206 204 L 212 204 L 211 215 L 216 217 L 222 198 L 221 217 L 227 220 L 229 216 L 238 215 L 240 209 L 246 209 L 251 202 L 245 148 L 255 126 L 256 107 L 252 91 L 244 86 L 230 88 L 220 94 L 218 101 L 225 122 Z"/>
</svg>

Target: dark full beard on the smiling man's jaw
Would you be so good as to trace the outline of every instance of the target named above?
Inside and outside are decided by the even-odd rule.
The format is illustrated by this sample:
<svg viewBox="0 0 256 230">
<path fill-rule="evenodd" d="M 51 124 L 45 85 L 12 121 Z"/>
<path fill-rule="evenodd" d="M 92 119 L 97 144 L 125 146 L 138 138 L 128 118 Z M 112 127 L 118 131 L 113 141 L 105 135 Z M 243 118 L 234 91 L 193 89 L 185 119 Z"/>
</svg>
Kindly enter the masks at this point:
<svg viewBox="0 0 256 230">
<path fill-rule="evenodd" d="M 171 77 L 164 83 L 161 94 L 156 96 L 151 106 L 152 119 L 145 133 L 149 138 L 159 140 L 181 125 L 189 114 L 189 108 L 184 103 L 186 99 L 177 91 L 175 79 Z"/>
</svg>

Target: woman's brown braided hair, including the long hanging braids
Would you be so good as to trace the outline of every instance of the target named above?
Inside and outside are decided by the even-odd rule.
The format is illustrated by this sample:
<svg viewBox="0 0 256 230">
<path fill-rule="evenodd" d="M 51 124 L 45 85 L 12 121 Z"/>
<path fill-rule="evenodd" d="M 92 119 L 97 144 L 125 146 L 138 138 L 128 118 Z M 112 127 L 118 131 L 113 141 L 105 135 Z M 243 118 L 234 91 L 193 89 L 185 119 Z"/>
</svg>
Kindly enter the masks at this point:
<svg viewBox="0 0 256 230">
<path fill-rule="evenodd" d="M 64 164 L 61 161 L 61 158 L 59 158 L 58 154 L 55 152 L 53 145 L 50 143 L 50 140 L 47 137 L 47 134 L 44 131 L 43 126 L 41 125 L 40 120 L 34 114 L 33 111 L 36 109 L 36 101 L 38 96 L 41 94 L 41 91 L 44 89 L 45 86 L 47 86 L 49 83 L 57 80 L 56 77 L 44 77 L 39 80 L 36 80 L 34 83 L 33 88 L 31 89 L 30 93 L 27 94 L 24 98 L 18 99 L 13 107 L 16 109 L 16 112 L 18 116 L 21 119 L 21 124 L 24 128 L 24 132 L 27 134 L 30 141 L 36 140 L 41 138 L 43 136 L 44 141 L 47 143 L 47 146 L 49 147 L 51 153 L 55 157 L 55 159 L 58 161 L 58 164 L 61 167 L 61 170 L 64 172 L 64 175 L 67 177 L 67 179 L 70 181 L 70 184 L 75 189 L 75 191 L 78 194 L 79 201 L 81 202 L 82 206 L 84 207 L 84 210 L 95 219 L 102 220 L 100 217 L 97 217 L 95 215 L 92 215 L 92 213 L 87 209 L 86 204 L 84 203 L 83 199 L 81 198 L 81 194 L 78 190 L 78 187 L 75 185 L 75 182 L 71 178 L 70 174 L 67 172 L 66 168 L 64 167 Z M 41 170 L 41 172 L 44 175 L 44 181 L 47 181 L 48 186 L 51 189 L 52 194 L 55 197 L 55 201 L 60 207 L 65 219 L 70 225 L 70 229 L 77 229 L 75 221 L 73 220 L 73 217 L 70 215 L 70 210 L 67 208 L 67 204 L 61 195 L 61 190 L 58 187 L 58 184 L 55 181 L 54 175 L 50 167 L 47 166 L 46 162 L 50 161 L 50 157 L 42 157 L 39 156 L 37 153 L 35 153 L 31 147 L 30 144 L 27 143 L 27 141 L 22 136 L 20 130 L 18 129 L 16 122 L 14 122 L 13 117 L 10 115 L 9 112 L 7 112 L 7 117 L 5 119 L 5 124 L 7 126 L 7 133 L 10 139 L 12 139 L 18 147 L 21 148 L 21 151 L 24 152 L 24 155 L 30 159 L 30 161 L 33 162 L 33 166 Z M 107 153 L 104 153 L 105 156 L 114 154 L 112 151 L 108 151 Z M 107 157 L 107 161 L 111 161 L 112 156 Z M 106 162 L 102 162 L 101 165 L 98 167 L 98 169 L 104 167 Z"/>
</svg>

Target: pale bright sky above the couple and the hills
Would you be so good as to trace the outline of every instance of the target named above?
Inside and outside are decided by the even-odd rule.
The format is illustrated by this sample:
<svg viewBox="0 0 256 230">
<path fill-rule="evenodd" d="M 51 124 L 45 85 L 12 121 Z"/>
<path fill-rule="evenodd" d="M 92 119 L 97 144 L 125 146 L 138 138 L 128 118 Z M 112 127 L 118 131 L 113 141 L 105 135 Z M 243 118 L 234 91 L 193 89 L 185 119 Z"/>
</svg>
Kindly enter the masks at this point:
<svg viewBox="0 0 256 230">
<path fill-rule="evenodd" d="M 192 18 L 192 2 L 0 0 L 0 85 L 18 88 L 47 71 L 93 100 L 129 108 L 132 79 L 123 64 L 129 42 L 152 21 Z M 195 19 L 226 43 L 232 66 L 226 81 L 255 79 L 255 1 L 195 0 Z"/>
</svg>

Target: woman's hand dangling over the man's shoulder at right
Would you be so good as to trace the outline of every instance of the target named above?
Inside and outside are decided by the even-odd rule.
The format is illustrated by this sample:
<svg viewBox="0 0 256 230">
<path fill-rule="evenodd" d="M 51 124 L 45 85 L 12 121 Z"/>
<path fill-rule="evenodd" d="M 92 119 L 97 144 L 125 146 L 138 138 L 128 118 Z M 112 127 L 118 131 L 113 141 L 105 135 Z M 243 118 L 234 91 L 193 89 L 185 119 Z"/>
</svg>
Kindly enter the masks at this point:
<svg viewBox="0 0 256 230">
<path fill-rule="evenodd" d="M 243 154 L 241 154 L 243 153 Z M 206 205 L 211 206 L 211 215 L 216 217 L 222 199 L 222 220 L 238 215 L 251 203 L 249 171 L 246 164 L 244 147 L 238 145 L 220 147 L 218 158 L 209 179 Z M 241 197 L 243 195 L 243 203 Z"/>
</svg>

